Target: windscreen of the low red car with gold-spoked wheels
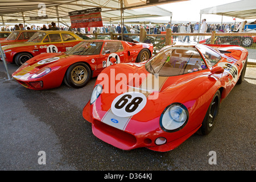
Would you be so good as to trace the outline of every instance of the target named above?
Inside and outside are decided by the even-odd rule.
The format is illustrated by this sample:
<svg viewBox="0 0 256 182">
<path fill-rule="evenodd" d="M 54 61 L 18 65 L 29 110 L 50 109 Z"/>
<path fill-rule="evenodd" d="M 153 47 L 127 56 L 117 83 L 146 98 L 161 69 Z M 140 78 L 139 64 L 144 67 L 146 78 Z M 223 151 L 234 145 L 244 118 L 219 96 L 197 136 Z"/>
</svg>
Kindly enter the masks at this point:
<svg viewBox="0 0 256 182">
<path fill-rule="evenodd" d="M 102 42 L 80 42 L 72 47 L 66 54 L 69 55 L 99 55 L 102 47 Z"/>
</svg>

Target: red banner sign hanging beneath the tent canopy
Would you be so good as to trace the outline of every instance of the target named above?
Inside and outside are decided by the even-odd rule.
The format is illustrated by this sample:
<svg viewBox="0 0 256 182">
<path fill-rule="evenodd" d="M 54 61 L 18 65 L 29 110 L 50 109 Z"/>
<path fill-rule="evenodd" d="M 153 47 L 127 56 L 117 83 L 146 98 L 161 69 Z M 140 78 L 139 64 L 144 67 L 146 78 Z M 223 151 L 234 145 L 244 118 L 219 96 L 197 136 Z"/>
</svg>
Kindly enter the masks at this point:
<svg viewBox="0 0 256 182">
<path fill-rule="evenodd" d="M 70 16 L 71 28 L 103 27 L 101 13 Z"/>
</svg>

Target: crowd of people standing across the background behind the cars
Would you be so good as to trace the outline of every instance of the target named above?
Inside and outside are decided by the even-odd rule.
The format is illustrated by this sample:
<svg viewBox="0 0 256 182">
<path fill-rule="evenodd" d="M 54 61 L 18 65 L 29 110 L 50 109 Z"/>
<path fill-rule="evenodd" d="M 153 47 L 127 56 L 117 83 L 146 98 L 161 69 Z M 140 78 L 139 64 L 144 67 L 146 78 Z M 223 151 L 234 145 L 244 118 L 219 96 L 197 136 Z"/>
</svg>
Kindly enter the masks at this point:
<svg viewBox="0 0 256 182">
<path fill-rule="evenodd" d="M 206 19 L 203 19 L 202 22 L 199 24 L 199 22 L 196 22 L 192 24 L 191 22 L 188 22 L 187 24 L 179 23 L 179 24 L 171 24 L 169 22 L 168 24 L 156 24 L 156 25 L 131 25 L 131 26 L 123 26 L 121 28 L 120 24 L 115 26 L 112 25 L 106 25 L 102 27 L 86 27 L 86 28 L 73 28 L 73 30 L 70 27 L 60 26 L 57 27 L 55 22 L 52 22 L 51 24 L 43 24 L 43 27 L 40 26 L 31 26 L 31 27 L 23 27 L 23 24 L 15 24 L 14 27 L 2 27 L 1 31 L 14 31 L 14 30 L 65 30 L 65 31 L 78 31 L 84 34 L 109 34 L 110 32 L 121 34 L 121 30 L 123 29 L 124 34 L 138 34 L 139 30 L 141 28 L 144 28 L 147 31 L 147 34 L 162 34 L 162 32 L 165 32 L 167 28 L 171 28 L 172 32 L 176 33 L 204 33 L 204 32 L 243 32 L 243 27 L 245 24 L 248 24 L 245 20 L 244 22 L 238 22 L 238 23 L 224 23 L 224 24 L 208 24 Z M 256 24 L 256 20 L 254 22 L 251 22 L 250 24 Z M 137 31 L 138 30 L 138 31 Z M 174 41 L 178 39 L 179 41 L 190 41 L 191 36 L 174 36 Z M 204 39 L 204 36 L 193 36 L 193 40 L 202 40 Z"/>
</svg>

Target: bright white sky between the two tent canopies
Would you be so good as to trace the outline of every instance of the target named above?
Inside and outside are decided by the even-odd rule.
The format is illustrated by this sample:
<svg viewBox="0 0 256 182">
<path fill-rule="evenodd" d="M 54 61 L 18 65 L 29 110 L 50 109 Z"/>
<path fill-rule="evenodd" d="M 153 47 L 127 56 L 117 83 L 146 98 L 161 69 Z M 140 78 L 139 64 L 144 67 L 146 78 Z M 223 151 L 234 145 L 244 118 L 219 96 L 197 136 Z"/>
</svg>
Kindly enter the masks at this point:
<svg viewBox="0 0 256 182">
<path fill-rule="evenodd" d="M 224 5 L 226 3 L 236 2 L 240 0 L 189 0 L 176 3 L 168 3 L 166 5 L 159 5 L 163 9 L 172 12 L 172 22 L 188 21 L 196 23 L 200 21 L 200 10 L 208 7 Z M 221 22 L 221 15 L 207 15 L 203 14 L 201 19 L 207 19 L 207 22 Z M 163 17 L 161 19 L 170 20 L 170 17 Z M 236 22 L 242 22 L 243 19 L 236 19 Z M 247 21 L 253 22 L 252 19 Z M 223 16 L 223 22 L 233 23 L 232 17 Z"/>
</svg>

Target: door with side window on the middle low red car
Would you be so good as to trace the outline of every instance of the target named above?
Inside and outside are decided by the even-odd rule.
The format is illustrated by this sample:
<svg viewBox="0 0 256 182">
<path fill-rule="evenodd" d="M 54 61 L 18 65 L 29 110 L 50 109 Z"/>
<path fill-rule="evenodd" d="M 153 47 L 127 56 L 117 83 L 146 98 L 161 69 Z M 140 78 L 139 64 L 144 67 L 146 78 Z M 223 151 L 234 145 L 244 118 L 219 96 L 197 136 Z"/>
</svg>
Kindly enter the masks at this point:
<svg viewBox="0 0 256 182">
<path fill-rule="evenodd" d="M 117 60 L 115 63 L 124 63 L 125 61 L 125 49 L 122 42 L 119 40 L 105 41 L 100 54 L 97 68 L 104 69 L 110 66 L 110 58 L 114 57 Z"/>
</svg>

